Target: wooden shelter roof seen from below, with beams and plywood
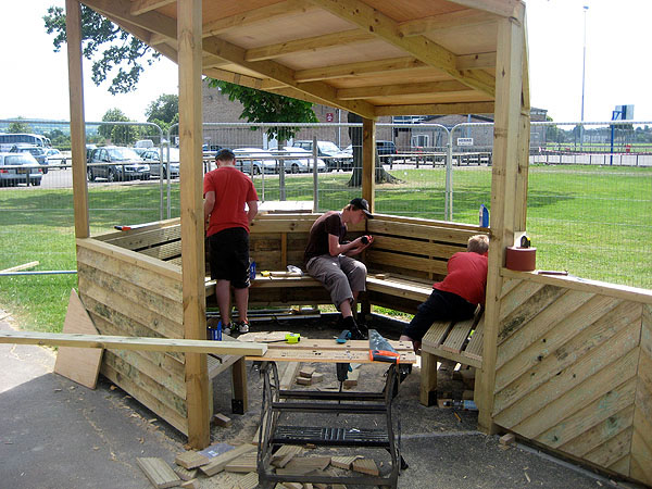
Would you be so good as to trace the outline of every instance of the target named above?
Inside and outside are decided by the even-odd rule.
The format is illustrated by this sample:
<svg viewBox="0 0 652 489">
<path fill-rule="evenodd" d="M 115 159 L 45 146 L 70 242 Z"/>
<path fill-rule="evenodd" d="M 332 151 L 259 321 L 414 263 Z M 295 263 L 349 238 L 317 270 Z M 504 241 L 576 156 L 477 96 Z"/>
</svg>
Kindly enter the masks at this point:
<svg viewBox="0 0 652 489">
<path fill-rule="evenodd" d="M 176 0 L 83 0 L 176 61 Z M 383 115 L 492 113 L 519 0 L 204 0 L 203 74 Z"/>
</svg>

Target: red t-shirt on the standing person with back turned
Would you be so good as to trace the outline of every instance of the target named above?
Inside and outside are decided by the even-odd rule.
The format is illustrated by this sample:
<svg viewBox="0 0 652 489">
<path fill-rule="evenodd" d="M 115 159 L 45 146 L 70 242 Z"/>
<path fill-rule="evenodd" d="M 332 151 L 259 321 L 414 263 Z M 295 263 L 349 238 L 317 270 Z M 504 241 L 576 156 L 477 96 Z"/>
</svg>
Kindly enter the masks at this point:
<svg viewBox="0 0 652 489">
<path fill-rule="evenodd" d="M 244 203 L 258 201 L 251 178 L 234 166 L 223 166 L 204 175 L 204 196 L 210 191 L 215 192 L 215 205 L 206 236 L 230 227 L 243 227 L 249 233 Z"/>
</svg>

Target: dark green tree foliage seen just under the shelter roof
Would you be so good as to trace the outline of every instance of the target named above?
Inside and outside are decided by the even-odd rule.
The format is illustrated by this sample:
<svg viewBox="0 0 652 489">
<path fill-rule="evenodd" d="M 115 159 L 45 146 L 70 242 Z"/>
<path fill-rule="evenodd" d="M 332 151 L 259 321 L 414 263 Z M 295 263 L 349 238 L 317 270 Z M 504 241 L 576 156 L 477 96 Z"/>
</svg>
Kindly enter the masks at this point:
<svg viewBox="0 0 652 489">
<path fill-rule="evenodd" d="M 230 101 L 239 101 L 243 109 L 240 118 L 250 123 L 315 123 L 318 122 L 312 110 L 312 103 L 303 100 L 291 99 L 289 97 L 268 93 L 254 88 L 241 87 L 240 85 L 229 84 L 211 79 L 210 87 L 218 88 Z M 256 130 L 256 127 L 252 127 Z M 266 129 L 269 138 L 278 140 L 278 148 L 283 142 L 299 131 L 299 127 L 268 127 Z"/>
</svg>

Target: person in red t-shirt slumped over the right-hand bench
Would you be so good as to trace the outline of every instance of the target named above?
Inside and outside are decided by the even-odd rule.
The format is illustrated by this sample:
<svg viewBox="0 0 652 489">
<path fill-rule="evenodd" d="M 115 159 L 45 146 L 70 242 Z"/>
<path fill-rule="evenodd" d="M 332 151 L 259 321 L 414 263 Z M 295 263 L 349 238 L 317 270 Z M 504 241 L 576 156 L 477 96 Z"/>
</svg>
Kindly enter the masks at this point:
<svg viewBox="0 0 652 489">
<path fill-rule="evenodd" d="M 489 237 L 472 236 L 466 249 L 450 258 L 448 275 L 432 285 L 432 293 L 403 329 L 400 340 L 412 341 L 414 351 L 421 349 L 424 335 L 436 321 L 468 319 L 478 304 L 485 304 Z"/>
</svg>

